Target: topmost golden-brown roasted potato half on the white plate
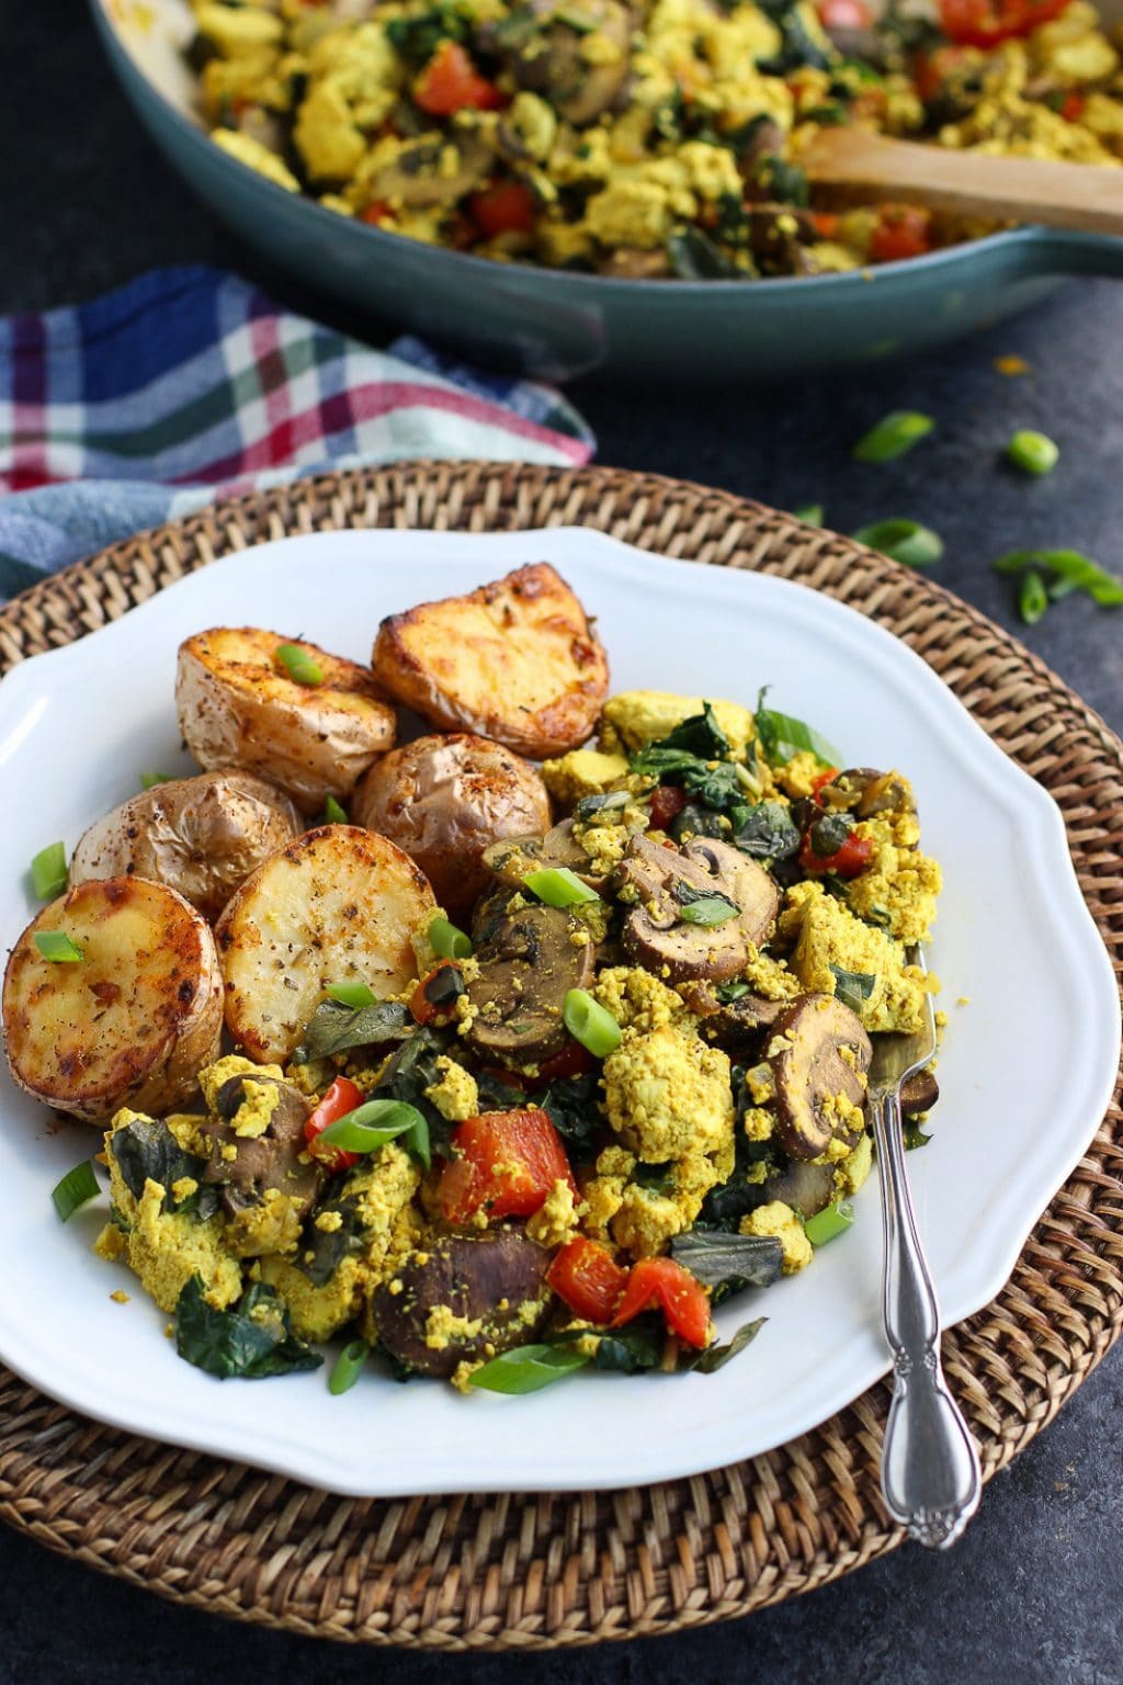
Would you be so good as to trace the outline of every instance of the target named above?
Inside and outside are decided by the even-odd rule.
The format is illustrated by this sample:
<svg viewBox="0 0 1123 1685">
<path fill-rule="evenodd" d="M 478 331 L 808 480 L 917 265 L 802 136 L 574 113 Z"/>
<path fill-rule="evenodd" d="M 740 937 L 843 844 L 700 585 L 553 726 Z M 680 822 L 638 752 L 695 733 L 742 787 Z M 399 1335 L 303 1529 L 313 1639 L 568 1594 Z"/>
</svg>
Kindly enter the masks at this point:
<svg viewBox="0 0 1123 1685">
<path fill-rule="evenodd" d="M 544 760 L 584 743 L 608 659 L 584 608 L 544 561 L 379 627 L 377 682 L 434 726 Z"/>
</svg>

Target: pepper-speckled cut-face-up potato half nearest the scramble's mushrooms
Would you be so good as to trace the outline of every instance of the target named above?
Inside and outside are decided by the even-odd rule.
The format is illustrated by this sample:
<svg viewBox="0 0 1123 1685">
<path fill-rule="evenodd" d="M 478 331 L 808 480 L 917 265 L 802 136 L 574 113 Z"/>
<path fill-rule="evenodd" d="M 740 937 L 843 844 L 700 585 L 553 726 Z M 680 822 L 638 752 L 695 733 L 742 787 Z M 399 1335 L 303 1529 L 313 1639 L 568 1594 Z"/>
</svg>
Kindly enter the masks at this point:
<svg viewBox="0 0 1123 1685">
<path fill-rule="evenodd" d="M 399 994 L 418 971 L 409 939 L 434 912 L 428 880 L 394 842 L 359 826 L 306 831 L 219 920 L 227 1030 L 247 1058 L 288 1058 L 328 982 Z"/>
</svg>

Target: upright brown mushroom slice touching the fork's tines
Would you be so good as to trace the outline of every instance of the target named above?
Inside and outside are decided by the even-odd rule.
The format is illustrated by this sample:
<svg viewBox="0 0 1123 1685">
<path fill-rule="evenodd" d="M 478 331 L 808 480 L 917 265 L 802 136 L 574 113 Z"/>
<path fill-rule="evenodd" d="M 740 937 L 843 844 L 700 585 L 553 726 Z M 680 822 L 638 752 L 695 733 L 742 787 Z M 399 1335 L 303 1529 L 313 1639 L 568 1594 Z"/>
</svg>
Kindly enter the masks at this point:
<svg viewBox="0 0 1123 1685">
<path fill-rule="evenodd" d="M 847 1053 L 849 1050 L 849 1053 Z M 860 1129 L 837 1115 L 840 1095 L 865 1104 L 870 1040 L 857 1013 L 832 994 L 801 994 L 773 1024 L 768 1062 L 776 1083 L 776 1136 L 795 1159 L 813 1159 L 832 1139 L 854 1147 Z"/>
</svg>

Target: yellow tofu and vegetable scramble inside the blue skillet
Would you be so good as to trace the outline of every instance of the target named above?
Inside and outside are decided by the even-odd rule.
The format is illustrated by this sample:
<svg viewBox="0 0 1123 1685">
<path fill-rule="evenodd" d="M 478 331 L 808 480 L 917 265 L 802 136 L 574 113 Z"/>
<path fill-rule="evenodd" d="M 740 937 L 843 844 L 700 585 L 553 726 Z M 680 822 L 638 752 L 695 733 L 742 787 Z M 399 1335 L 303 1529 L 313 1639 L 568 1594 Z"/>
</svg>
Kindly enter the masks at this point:
<svg viewBox="0 0 1123 1685">
<path fill-rule="evenodd" d="M 817 206 L 823 125 L 1123 160 L 1120 42 L 1084 0 L 192 0 L 210 135 L 291 192 L 507 261 L 815 275 L 985 233 Z"/>
</svg>

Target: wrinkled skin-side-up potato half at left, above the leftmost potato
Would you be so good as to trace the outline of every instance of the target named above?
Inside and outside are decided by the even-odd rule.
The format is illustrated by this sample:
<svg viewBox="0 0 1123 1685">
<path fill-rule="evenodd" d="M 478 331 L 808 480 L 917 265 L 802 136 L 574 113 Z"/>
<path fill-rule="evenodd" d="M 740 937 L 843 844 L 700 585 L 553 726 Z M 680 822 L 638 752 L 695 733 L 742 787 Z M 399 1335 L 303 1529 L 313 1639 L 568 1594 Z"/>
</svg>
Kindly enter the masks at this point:
<svg viewBox="0 0 1123 1685">
<path fill-rule="evenodd" d="M 212 923 L 251 871 L 301 831 L 288 795 L 249 772 L 173 778 L 121 802 L 79 837 L 71 885 L 148 878 Z"/>
</svg>

